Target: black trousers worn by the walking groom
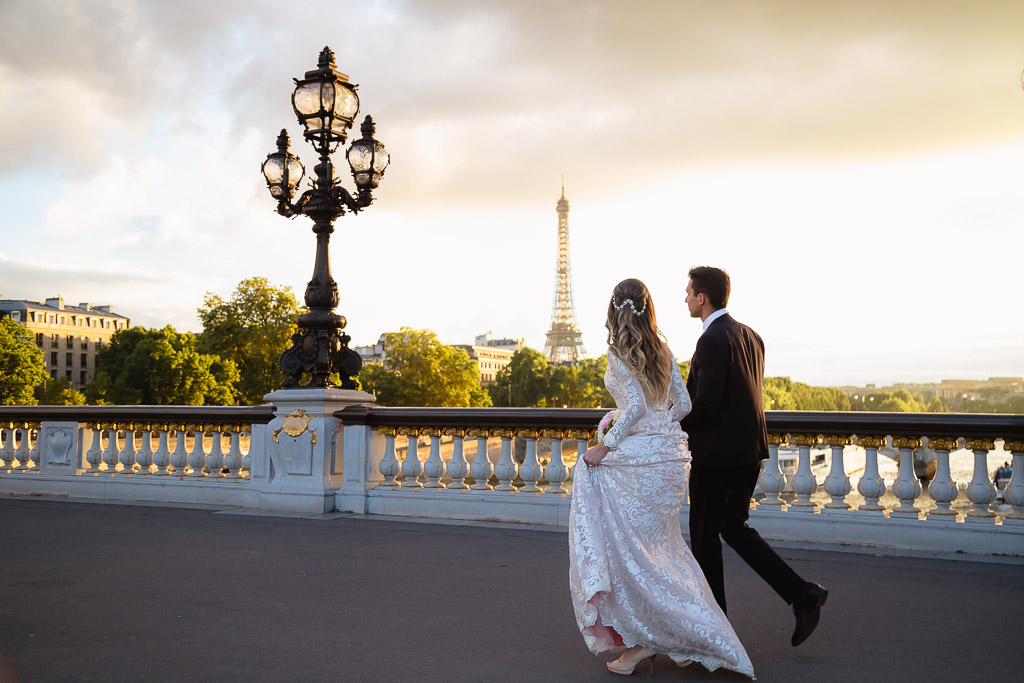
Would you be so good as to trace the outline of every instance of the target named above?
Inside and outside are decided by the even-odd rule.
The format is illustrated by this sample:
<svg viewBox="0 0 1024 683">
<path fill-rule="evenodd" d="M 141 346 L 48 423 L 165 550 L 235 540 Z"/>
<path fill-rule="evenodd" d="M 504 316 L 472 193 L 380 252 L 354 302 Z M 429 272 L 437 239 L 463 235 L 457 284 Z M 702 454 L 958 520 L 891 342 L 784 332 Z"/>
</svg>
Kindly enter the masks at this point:
<svg viewBox="0 0 1024 683">
<path fill-rule="evenodd" d="M 690 470 L 691 550 L 722 611 L 726 611 L 726 606 L 721 539 L 725 539 L 786 604 L 793 604 L 804 588 L 804 580 L 756 529 L 746 525 L 751 495 L 760 470 L 760 464 Z"/>
</svg>

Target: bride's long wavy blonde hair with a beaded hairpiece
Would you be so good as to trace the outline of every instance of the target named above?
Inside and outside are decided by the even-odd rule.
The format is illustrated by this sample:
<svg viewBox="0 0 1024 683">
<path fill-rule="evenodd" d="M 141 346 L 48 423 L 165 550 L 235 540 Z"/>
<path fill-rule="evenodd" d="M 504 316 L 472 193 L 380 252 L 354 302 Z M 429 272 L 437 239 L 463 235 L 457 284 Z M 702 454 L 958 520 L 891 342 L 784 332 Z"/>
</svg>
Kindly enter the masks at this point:
<svg viewBox="0 0 1024 683">
<path fill-rule="evenodd" d="M 672 372 L 669 346 L 663 341 L 650 292 L 639 280 L 615 285 L 608 302 L 608 346 L 637 376 L 648 398 L 666 394 Z"/>
</svg>

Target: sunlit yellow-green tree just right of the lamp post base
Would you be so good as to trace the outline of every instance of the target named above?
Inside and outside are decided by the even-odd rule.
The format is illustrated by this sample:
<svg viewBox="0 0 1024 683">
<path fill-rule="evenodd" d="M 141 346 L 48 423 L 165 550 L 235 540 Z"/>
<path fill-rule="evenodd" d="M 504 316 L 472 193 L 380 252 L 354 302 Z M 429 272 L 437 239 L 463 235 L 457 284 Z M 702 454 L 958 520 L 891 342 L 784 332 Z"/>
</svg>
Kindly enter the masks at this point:
<svg viewBox="0 0 1024 683">
<path fill-rule="evenodd" d="M 401 328 L 385 337 L 384 348 L 386 367 L 359 372 L 362 390 L 375 393 L 380 405 L 490 405 L 469 354 L 430 330 Z"/>
</svg>

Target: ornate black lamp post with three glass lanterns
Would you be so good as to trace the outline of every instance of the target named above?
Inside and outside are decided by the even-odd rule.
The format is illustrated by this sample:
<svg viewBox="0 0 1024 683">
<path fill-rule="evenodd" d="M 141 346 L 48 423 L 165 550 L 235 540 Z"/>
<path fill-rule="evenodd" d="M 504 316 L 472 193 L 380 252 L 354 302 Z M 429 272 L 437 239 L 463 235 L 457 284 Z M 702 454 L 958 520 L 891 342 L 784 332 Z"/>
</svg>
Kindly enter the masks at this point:
<svg viewBox="0 0 1024 683">
<path fill-rule="evenodd" d="M 334 312 L 338 305 L 338 285 L 331 276 L 328 243 L 334 232 L 334 221 L 346 211 L 358 213 L 374 201 L 373 190 L 387 168 L 388 154 L 374 139 L 374 121 L 364 119 L 359 131 L 362 137 L 348 148 L 348 165 L 355 180 L 356 194 L 337 184 L 331 155 L 344 144 L 355 116 L 359 112 L 356 86 L 337 71 L 334 52 L 325 47 L 317 68 L 306 72 L 302 80 L 295 79 L 292 106 L 305 130 L 302 136 L 319 153 L 319 163 L 313 169 L 316 177 L 293 204 L 304 169 L 298 158 L 289 153 L 288 132 L 278 136 L 278 152 L 267 155 L 263 175 L 270 196 L 278 200 L 278 213 L 294 217 L 299 214 L 313 220 L 316 233 L 316 260 L 313 278 L 306 285 L 305 302 L 308 313 L 299 315 L 299 330 L 292 335 L 292 346 L 281 354 L 281 369 L 288 379 L 283 386 L 297 387 L 303 374 L 309 376 L 307 387 L 337 386 L 333 373 L 341 376 L 341 388 L 354 389 L 355 376 L 362 361 L 359 354 L 348 348 L 350 337 L 342 330 L 345 316 Z"/>
</svg>

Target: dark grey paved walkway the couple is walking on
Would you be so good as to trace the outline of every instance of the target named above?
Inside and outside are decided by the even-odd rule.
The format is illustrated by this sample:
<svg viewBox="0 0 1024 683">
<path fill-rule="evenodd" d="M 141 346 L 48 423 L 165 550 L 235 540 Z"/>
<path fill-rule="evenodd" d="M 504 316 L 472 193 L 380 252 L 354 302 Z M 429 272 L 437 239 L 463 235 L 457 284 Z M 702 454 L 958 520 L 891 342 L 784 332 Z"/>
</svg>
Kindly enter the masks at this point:
<svg viewBox="0 0 1024 683">
<path fill-rule="evenodd" d="M 564 532 L 0 500 L 0 681 L 610 681 Z M 783 550 L 831 594 L 788 608 L 729 551 L 759 681 L 1010 681 L 1024 567 Z M 741 681 L 665 657 L 657 680 Z"/>
</svg>

